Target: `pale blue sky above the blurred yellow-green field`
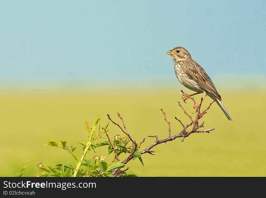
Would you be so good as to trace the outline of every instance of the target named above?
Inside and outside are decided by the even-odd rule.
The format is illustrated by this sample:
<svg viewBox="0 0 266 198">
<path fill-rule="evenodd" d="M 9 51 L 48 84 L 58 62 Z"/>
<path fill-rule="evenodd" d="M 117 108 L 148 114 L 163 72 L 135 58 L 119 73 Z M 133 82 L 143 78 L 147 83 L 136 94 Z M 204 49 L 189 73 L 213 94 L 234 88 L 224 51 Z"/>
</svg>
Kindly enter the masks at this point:
<svg viewBox="0 0 266 198">
<path fill-rule="evenodd" d="M 176 81 L 165 54 L 210 75 L 266 76 L 265 1 L 1 1 L 0 81 Z"/>
</svg>

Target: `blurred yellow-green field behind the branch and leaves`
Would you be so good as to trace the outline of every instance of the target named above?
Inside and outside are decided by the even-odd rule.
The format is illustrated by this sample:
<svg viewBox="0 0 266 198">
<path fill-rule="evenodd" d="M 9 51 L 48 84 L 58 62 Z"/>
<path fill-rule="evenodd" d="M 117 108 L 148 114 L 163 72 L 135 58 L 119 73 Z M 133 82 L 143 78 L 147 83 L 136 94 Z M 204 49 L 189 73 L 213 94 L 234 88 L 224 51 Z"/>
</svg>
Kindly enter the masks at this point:
<svg viewBox="0 0 266 198">
<path fill-rule="evenodd" d="M 245 91 L 220 91 L 222 102 L 230 113 L 229 122 L 217 104 L 213 104 L 203 117 L 205 129 L 215 128 L 211 133 L 192 134 L 184 142 L 176 139 L 154 147 L 155 156 L 142 155 L 141 163 L 130 161 L 128 173 L 138 176 L 266 176 L 266 131 L 265 92 L 256 95 Z M 196 97 L 199 101 L 200 96 Z M 108 121 L 106 114 L 120 123 L 116 112 L 124 118 L 133 139 L 146 141 L 142 149 L 150 145 L 158 134 L 159 139 L 168 135 L 167 123 L 160 109 L 166 112 L 171 122 L 172 134 L 182 127 L 174 119 L 188 122 L 177 101 L 181 100 L 178 89 L 169 90 L 120 90 L 120 91 L 31 91 L 0 94 L 1 164 L 0 176 L 15 176 L 23 164 L 31 160 L 23 176 L 33 176 L 39 171 L 38 162 L 56 165 L 74 161 L 64 150 L 42 147 L 47 139 L 65 140 L 67 145 L 77 146 L 77 157 L 81 155 L 86 141 L 84 123 L 90 125 L 96 116 L 101 124 Z M 203 101 L 206 107 L 210 98 Z M 181 102 L 188 112 L 193 104 Z M 112 123 L 109 134 L 122 133 Z M 97 155 L 107 154 L 107 147 L 97 150 Z M 86 158 L 90 158 L 90 153 Z M 107 162 L 113 156 L 107 156 Z"/>
</svg>

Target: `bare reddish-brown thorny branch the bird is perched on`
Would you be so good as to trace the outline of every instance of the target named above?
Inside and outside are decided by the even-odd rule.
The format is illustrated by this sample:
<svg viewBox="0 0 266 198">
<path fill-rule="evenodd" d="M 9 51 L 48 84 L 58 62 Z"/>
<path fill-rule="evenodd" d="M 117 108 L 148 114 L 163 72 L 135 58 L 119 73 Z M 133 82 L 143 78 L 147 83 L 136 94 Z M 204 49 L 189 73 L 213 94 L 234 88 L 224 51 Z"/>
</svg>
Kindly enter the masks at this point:
<svg viewBox="0 0 266 198">
<path fill-rule="evenodd" d="M 181 90 L 181 92 L 183 93 L 183 91 Z M 217 98 L 218 96 L 216 96 L 216 98 Z M 193 103 L 194 103 L 194 105 L 197 105 L 197 103 L 196 103 L 196 101 L 194 100 L 194 98 L 193 97 L 187 97 L 188 99 L 191 99 L 192 101 L 193 101 Z M 155 137 L 156 138 L 156 140 L 155 140 L 155 142 L 154 143 L 152 143 L 151 145 L 149 145 L 146 149 L 143 149 L 142 151 L 140 151 L 140 153 L 141 153 L 141 155 L 142 154 L 144 154 L 144 153 L 149 153 L 149 154 L 151 154 L 151 155 L 155 155 L 154 154 L 154 152 L 155 151 L 152 151 L 151 149 L 153 148 L 153 147 L 155 147 L 156 145 L 158 145 L 158 144 L 161 144 L 161 143 L 166 143 L 166 142 L 169 142 L 169 141 L 172 141 L 172 140 L 174 140 L 174 139 L 176 139 L 176 138 L 183 138 L 181 141 L 183 142 L 184 141 L 184 139 L 186 138 L 186 137 L 188 137 L 190 134 L 192 134 L 192 133 L 210 133 L 210 131 L 212 131 L 212 130 L 214 130 L 214 128 L 211 128 L 211 129 L 205 129 L 205 130 L 198 130 L 198 129 L 200 129 L 200 128 L 202 128 L 202 127 L 204 127 L 204 122 L 202 123 L 202 124 L 200 124 L 199 125 L 199 120 L 207 113 L 207 110 L 209 110 L 210 109 L 210 107 L 211 107 L 211 105 L 214 103 L 214 101 L 216 100 L 216 98 L 209 104 L 209 106 L 205 109 L 205 110 L 203 110 L 202 112 L 200 112 L 200 108 L 201 108 L 201 105 L 202 105 L 202 101 L 203 101 L 203 98 L 201 98 L 201 100 L 200 100 L 200 104 L 198 105 L 198 107 L 196 108 L 196 117 L 195 117 L 195 119 L 193 120 L 192 119 L 192 116 L 190 116 L 188 113 L 187 113 L 187 111 L 183 108 L 183 106 L 180 104 L 180 102 L 178 102 L 178 104 L 179 104 L 179 106 L 181 107 L 181 109 L 184 111 L 184 113 L 187 115 L 187 117 L 189 117 L 189 119 L 190 119 L 190 123 L 187 123 L 186 125 L 185 124 L 183 124 L 182 123 L 182 121 L 180 120 L 180 119 L 178 119 L 177 117 L 175 117 L 175 119 L 182 125 L 182 130 L 177 134 L 177 135 L 174 135 L 174 136 L 171 136 L 171 128 L 170 128 L 170 122 L 167 120 L 167 118 L 166 118 L 166 113 L 164 112 L 164 110 L 163 109 L 161 109 L 161 112 L 163 113 L 163 115 L 164 115 L 164 120 L 167 122 L 167 124 L 168 124 L 168 137 L 167 138 L 165 138 L 165 139 L 161 139 L 161 140 L 159 140 L 159 138 L 158 138 L 158 136 L 157 136 L 157 134 L 155 134 L 155 136 L 148 136 L 148 137 Z M 108 117 L 108 119 L 113 123 L 113 124 L 115 124 L 116 126 L 118 126 L 120 129 L 121 129 L 121 131 L 123 132 L 123 133 L 125 133 L 127 136 L 128 136 L 128 138 L 130 139 L 130 141 L 132 142 L 132 149 L 133 149 L 133 151 L 130 153 L 130 155 L 125 159 L 125 160 L 123 160 L 122 161 L 122 163 L 124 163 L 124 164 L 127 164 L 131 159 L 133 159 L 133 154 L 137 151 L 137 149 L 138 148 L 140 148 L 140 146 L 141 146 L 141 144 L 145 141 L 145 138 L 142 140 L 142 142 L 140 142 L 139 143 L 139 146 L 138 146 L 138 143 L 136 142 L 136 141 L 134 141 L 133 139 L 132 139 L 132 137 L 129 135 L 129 133 L 128 133 L 128 131 L 127 131 L 127 129 L 126 129 L 126 126 L 125 126 L 125 123 L 124 123 L 124 120 L 123 120 L 123 118 L 121 117 L 121 115 L 119 114 L 119 113 L 117 113 L 118 114 L 118 117 L 120 118 L 120 120 L 122 121 L 122 124 L 123 124 L 123 126 L 124 126 L 124 129 L 118 124 L 118 123 L 115 123 L 111 118 L 110 118 L 110 115 L 109 114 L 107 114 L 107 117 Z M 188 127 L 190 127 L 190 126 L 192 126 L 192 129 L 191 130 L 189 130 L 189 131 L 187 131 L 187 129 L 188 129 Z M 107 134 L 106 134 L 107 135 Z M 109 142 L 110 142 L 110 140 L 109 140 Z M 112 144 L 111 144 L 112 145 Z M 113 147 L 113 149 L 114 149 L 114 147 Z M 131 149 L 131 148 L 128 148 L 128 149 Z M 115 150 L 115 149 L 114 149 Z M 117 157 L 117 156 L 116 156 Z M 118 176 L 118 173 L 119 173 L 119 171 L 120 171 L 120 168 L 117 168 L 117 169 L 115 169 L 114 171 L 112 171 L 112 174 L 116 177 L 116 176 Z"/>
</svg>

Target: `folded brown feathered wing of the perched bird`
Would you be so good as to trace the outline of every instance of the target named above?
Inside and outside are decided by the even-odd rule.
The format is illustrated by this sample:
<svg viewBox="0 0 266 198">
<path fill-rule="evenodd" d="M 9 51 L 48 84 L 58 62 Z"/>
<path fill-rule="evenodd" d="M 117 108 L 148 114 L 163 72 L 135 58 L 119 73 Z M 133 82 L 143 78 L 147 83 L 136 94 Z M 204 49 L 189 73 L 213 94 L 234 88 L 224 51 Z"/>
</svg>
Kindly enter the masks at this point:
<svg viewBox="0 0 266 198">
<path fill-rule="evenodd" d="M 201 88 L 205 89 L 211 94 L 214 94 L 215 96 L 218 95 L 211 78 L 196 61 L 186 61 L 184 69 L 189 78 L 194 80 Z"/>
</svg>

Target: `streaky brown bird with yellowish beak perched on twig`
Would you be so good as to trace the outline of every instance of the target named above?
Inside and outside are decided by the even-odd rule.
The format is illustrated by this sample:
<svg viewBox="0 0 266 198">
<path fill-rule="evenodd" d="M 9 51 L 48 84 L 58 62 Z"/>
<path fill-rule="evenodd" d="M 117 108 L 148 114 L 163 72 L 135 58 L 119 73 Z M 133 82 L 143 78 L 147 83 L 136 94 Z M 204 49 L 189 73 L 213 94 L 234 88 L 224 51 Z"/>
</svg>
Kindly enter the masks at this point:
<svg viewBox="0 0 266 198">
<path fill-rule="evenodd" d="M 205 72 L 205 70 L 191 58 L 191 55 L 187 51 L 187 49 L 178 46 L 174 49 L 169 50 L 167 54 L 172 56 L 174 62 L 174 70 L 178 81 L 186 88 L 196 92 L 190 95 L 183 93 L 183 100 L 185 101 L 188 97 L 203 93 L 203 99 L 206 96 L 211 97 L 222 109 L 227 119 L 232 120 L 229 113 L 223 106 L 222 97 L 216 90 L 216 87 L 214 86 L 211 78 Z M 199 104 L 194 108 L 197 109 L 198 106 Z"/>
</svg>

